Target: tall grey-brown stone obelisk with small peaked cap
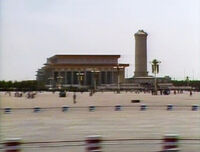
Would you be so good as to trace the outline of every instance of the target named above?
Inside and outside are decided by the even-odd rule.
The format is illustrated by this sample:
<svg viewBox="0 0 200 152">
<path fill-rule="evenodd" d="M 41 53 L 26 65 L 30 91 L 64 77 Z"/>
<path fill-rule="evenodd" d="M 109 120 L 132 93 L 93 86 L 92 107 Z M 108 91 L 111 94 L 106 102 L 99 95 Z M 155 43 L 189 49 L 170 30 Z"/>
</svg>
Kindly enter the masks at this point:
<svg viewBox="0 0 200 152">
<path fill-rule="evenodd" d="M 147 33 L 135 33 L 135 73 L 134 77 L 147 77 Z"/>
</svg>

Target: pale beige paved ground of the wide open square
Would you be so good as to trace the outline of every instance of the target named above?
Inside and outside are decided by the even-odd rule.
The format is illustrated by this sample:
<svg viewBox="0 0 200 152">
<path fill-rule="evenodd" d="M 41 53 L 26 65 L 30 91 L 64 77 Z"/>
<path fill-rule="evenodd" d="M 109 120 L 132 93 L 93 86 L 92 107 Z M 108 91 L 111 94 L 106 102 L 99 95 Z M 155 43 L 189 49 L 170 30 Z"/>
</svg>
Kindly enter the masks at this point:
<svg viewBox="0 0 200 152">
<path fill-rule="evenodd" d="M 3 139 L 21 138 L 24 142 L 84 140 L 86 136 L 94 134 L 102 135 L 103 139 L 160 139 L 167 133 L 179 134 L 181 138 L 200 139 L 200 112 L 191 111 L 192 104 L 200 104 L 200 93 L 194 93 L 193 96 L 189 96 L 188 92 L 152 96 L 144 93 L 105 92 L 96 93 L 92 97 L 89 93 L 77 93 L 77 104 L 73 104 L 73 93 L 68 93 L 66 98 L 59 98 L 58 93 L 39 93 L 34 99 L 0 94 L 3 108 L 111 106 L 97 107 L 94 112 L 89 112 L 88 108 L 72 108 L 67 112 L 62 112 L 61 108 L 44 109 L 38 113 L 33 113 L 32 109 L 14 110 L 10 114 L 1 111 Z M 140 99 L 141 103 L 131 103 L 132 99 Z M 136 107 L 122 107 L 121 111 L 114 111 L 117 104 Z M 153 107 L 140 111 L 140 104 Z M 166 111 L 167 104 L 179 107 Z M 103 142 L 102 147 L 105 152 L 154 152 L 161 150 L 160 143 L 161 141 L 112 141 Z M 80 152 L 85 149 L 82 142 L 50 144 L 50 148 L 49 144 L 24 146 L 26 148 L 23 148 L 23 152 Z M 184 152 L 199 152 L 200 140 L 181 141 L 180 147 Z"/>
</svg>

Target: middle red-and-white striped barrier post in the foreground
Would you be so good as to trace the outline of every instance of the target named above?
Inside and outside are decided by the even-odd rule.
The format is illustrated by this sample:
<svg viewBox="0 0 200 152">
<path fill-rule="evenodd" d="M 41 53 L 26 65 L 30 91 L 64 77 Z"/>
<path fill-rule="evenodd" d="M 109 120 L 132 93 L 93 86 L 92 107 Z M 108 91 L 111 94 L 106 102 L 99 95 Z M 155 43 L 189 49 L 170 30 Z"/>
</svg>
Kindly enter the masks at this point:
<svg viewBox="0 0 200 152">
<path fill-rule="evenodd" d="M 86 138 L 86 152 L 102 152 L 102 137 L 99 135 L 88 136 Z"/>
</svg>

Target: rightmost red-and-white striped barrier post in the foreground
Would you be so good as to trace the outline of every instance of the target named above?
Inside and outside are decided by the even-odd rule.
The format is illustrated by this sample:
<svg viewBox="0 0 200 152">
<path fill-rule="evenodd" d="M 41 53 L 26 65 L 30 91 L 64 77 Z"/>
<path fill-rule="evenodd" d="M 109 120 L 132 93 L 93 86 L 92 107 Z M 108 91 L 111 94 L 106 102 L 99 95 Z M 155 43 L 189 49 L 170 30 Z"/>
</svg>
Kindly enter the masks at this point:
<svg viewBox="0 0 200 152">
<path fill-rule="evenodd" d="M 176 134 L 167 134 L 163 139 L 163 151 L 179 151 L 179 136 Z"/>
</svg>

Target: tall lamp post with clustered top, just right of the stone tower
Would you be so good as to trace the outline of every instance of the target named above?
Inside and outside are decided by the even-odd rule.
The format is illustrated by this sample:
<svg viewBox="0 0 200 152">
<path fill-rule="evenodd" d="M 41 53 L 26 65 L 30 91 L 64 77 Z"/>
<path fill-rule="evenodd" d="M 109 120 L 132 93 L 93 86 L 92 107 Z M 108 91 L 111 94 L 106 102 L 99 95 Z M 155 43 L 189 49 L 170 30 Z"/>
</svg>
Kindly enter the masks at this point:
<svg viewBox="0 0 200 152">
<path fill-rule="evenodd" d="M 161 61 L 158 61 L 154 59 L 152 62 L 150 62 L 152 65 L 152 73 L 154 73 L 154 95 L 157 95 L 157 78 L 156 74 L 159 73 L 159 64 Z"/>
</svg>

